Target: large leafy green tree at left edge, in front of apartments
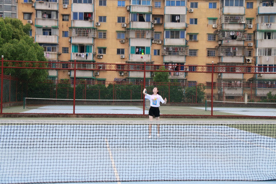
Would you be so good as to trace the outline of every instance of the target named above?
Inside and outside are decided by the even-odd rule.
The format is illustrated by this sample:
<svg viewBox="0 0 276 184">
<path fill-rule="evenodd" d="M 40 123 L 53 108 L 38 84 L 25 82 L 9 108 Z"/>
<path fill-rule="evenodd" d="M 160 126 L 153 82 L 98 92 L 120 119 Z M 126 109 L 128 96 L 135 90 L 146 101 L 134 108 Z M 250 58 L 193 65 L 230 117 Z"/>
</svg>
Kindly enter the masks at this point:
<svg viewBox="0 0 276 184">
<path fill-rule="evenodd" d="M 19 19 L 0 18 L 0 54 L 4 56 L 4 60 L 47 61 L 43 48 L 29 36 L 30 30 L 31 26 L 23 25 Z M 48 77 L 47 70 L 27 68 L 5 68 L 4 74 L 17 77 L 28 85 L 38 85 Z"/>
</svg>

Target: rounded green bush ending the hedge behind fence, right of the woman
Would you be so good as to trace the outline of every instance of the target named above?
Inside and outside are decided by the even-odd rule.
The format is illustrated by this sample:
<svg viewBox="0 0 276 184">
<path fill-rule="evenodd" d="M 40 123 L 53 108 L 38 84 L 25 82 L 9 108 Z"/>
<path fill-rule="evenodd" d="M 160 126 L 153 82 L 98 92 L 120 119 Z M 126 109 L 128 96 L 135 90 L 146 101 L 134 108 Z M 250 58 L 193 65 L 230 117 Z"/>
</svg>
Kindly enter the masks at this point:
<svg viewBox="0 0 276 184">
<path fill-rule="evenodd" d="M 204 85 L 197 85 L 197 86 L 190 86 L 185 88 L 185 99 L 186 102 L 190 103 L 201 103 L 204 100 L 205 96 L 205 86 Z"/>
</svg>

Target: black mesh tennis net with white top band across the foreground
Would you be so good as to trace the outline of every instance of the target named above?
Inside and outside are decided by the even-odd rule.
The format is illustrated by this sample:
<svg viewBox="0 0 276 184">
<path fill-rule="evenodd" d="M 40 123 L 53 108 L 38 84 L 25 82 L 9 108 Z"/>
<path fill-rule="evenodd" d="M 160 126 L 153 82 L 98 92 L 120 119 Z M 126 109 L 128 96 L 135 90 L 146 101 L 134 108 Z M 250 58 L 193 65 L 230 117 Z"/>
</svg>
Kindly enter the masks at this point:
<svg viewBox="0 0 276 184">
<path fill-rule="evenodd" d="M 273 121 L 120 122 L 1 123 L 0 183 L 276 179 Z"/>
</svg>

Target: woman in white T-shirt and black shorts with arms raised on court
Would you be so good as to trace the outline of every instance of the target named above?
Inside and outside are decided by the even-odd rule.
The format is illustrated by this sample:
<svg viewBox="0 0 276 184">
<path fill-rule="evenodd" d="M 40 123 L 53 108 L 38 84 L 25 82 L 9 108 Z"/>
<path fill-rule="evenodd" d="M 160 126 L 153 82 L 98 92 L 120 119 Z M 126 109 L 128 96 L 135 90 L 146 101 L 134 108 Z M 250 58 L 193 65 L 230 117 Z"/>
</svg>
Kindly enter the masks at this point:
<svg viewBox="0 0 276 184">
<path fill-rule="evenodd" d="M 146 99 L 150 100 L 150 109 L 149 109 L 149 120 L 152 121 L 153 117 L 155 117 L 156 120 L 159 120 L 160 117 L 160 102 L 163 104 L 167 103 L 167 98 L 165 100 L 159 95 L 159 90 L 157 87 L 154 87 L 152 89 L 153 95 L 149 95 L 146 93 L 147 89 L 145 88 L 143 90 L 143 94 L 145 95 Z M 151 124 L 149 125 L 149 138 L 151 138 Z M 157 124 L 157 136 L 160 136 L 159 132 L 160 125 Z"/>
</svg>

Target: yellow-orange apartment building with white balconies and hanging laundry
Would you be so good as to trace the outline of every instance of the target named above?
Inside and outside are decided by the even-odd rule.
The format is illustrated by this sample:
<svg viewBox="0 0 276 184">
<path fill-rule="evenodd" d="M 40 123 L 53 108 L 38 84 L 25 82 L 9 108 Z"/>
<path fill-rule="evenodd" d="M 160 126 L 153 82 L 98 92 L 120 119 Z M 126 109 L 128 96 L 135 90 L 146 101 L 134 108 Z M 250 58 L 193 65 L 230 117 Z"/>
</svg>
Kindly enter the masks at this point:
<svg viewBox="0 0 276 184">
<path fill-rule="evenodd" d="M 252 94 L 252 84 L 260 97 L 275 88 L 275 76 L 235 74 L 239 66 L 256 65 L 259 72 L 276 66 L 274 1 L 18 0 L 17 12 L 18 18 L 32 25 L 30 36 L 44 48 L 45 57 L 64 62 L 61 71 L 52 65 L 52 80 L 73 82 L 68 61 L 75 59 L 78 68 L 98 69 L 77 70 L 77 80 L 88 84 L 142 82 L 144 74 L 135 71 L 135 64 L 145 62 L 180 71 L 197 71 L 202 65 L 210 65 L 211 71 L 214 62 L 218 70 L 232 72 L 215 75 L 217 99 Z M 124 69 L 120 63 L 129 63 L 132 71 L 107 72 L 102 70 L 106 63 L 117 63 L 119 69 Z M 153 76 L 146 73 L 146 81 Z M 211 83 L 204 73 L 171 73 L 170 79 L 189 86 Z"/>
</svg>

